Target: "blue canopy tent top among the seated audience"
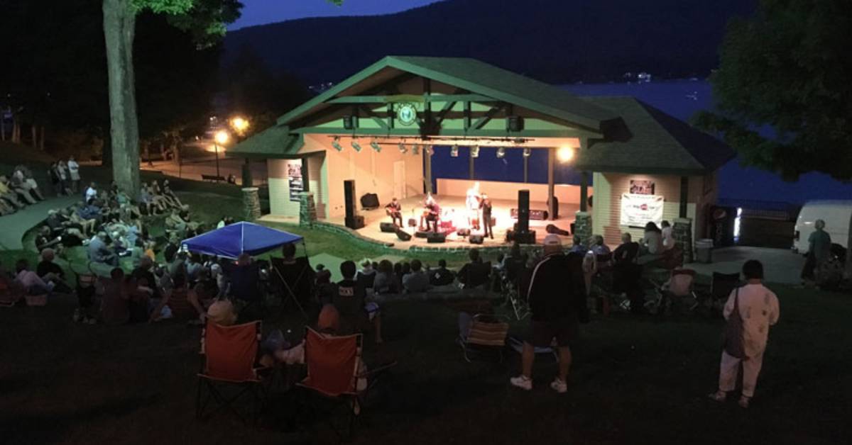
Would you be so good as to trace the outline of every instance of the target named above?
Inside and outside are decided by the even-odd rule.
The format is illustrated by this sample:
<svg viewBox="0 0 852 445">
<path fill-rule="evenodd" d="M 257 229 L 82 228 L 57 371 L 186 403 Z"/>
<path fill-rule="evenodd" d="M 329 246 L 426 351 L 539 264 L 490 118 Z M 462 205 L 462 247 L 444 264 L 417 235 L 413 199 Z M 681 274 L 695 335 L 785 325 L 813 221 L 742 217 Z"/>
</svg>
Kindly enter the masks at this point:
<svg viewBox="0 0 852 445">
<path fill-rule="evenodd" d="M 196 254 L 216 255 L 232 260 L 240 254 L 259 255 L 304 238 L 264 225 L 241 221 L 183 240 L 184 250 Z"/>
</svg>

